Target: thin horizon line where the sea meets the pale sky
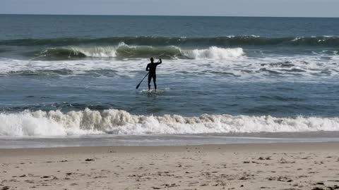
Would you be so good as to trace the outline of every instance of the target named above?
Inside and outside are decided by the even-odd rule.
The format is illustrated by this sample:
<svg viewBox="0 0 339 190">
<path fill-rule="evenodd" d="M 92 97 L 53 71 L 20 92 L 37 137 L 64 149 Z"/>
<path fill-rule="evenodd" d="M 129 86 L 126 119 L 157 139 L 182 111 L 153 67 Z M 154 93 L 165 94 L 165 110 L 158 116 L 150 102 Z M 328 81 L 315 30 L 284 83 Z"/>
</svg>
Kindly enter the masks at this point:
<svg viewBox="0 0 339 190">
<path fill-rule="evenodd" d="M 40 13 L 0 13 L 0 15 L 80 15 L 80 16 L 167 16 L 167 17 L 242 17 L 242 18 L 339 18 L 314 16 L 269 16 L 269 15 L 109 15 L 109 14 L 40 14 Z"/>
</svg>

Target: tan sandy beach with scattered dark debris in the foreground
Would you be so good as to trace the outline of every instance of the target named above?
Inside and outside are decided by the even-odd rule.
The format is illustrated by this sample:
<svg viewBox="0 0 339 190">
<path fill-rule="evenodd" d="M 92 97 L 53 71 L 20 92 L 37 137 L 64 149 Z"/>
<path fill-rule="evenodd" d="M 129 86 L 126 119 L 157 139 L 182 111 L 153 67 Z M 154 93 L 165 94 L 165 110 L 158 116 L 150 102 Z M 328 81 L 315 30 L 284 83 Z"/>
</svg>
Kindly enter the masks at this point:
<svg viewBox="0 0 339 190">
<path fill-rule="evenodd" d="M 339 143 L 0 149 L 0 189 L 339 189 Z"/>
</svg>

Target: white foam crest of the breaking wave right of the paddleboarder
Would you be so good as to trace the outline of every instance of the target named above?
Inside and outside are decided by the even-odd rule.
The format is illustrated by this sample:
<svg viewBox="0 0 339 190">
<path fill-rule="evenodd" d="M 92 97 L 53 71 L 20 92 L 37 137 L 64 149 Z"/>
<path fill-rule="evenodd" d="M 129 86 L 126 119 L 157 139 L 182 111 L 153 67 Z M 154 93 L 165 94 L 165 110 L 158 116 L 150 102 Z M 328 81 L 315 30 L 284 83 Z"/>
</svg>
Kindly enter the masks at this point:
<svg viewBox="0 0 339 190">
<path fill-rule="evenodd" d="M 191 59 L 201 59 L 201 58 L 225 59 L 242 56 L 244 54 L 244 51 L 242 48 L 225 49 L 216 46 L 211 46 L 208 49 L 182 50 L 182 54 L 187 58 Z"/>
</svg>

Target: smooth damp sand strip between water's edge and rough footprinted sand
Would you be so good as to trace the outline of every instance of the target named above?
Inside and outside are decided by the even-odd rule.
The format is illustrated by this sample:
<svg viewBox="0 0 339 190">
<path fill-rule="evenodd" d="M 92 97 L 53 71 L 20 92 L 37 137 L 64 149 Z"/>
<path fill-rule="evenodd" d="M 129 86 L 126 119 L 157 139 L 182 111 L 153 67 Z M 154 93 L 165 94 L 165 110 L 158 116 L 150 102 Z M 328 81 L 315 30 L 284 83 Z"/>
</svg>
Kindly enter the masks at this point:
<svg viewBox="0 0 339 190">
<path fill-rule="evenodd" d="M 263 147 L 265 149 L 263 149 Z M 4 156 L 2 153 L 86 153 L 89 149 L 93 153 L 101 153 L 102 151 L 109 151 L 114 149 L 119 153 L 144 153 L 144 152 L 175 152 L 185 151 L 186 148 L 199 148 L 208 152 L 213 151 L 314 151 L 314 149 L 321 148 L 317 151 L 335 151 L 338 150 L 338 141 L 328 142 L 284 142 L 284 143 L 254 143 L 254 144 L 204 144 L 204 145 L 179 145 L 179 146 L 61 146 L 61 147 L 42 147 L 42 148 L 0 148 L 0 158 Z"/>
</svg>

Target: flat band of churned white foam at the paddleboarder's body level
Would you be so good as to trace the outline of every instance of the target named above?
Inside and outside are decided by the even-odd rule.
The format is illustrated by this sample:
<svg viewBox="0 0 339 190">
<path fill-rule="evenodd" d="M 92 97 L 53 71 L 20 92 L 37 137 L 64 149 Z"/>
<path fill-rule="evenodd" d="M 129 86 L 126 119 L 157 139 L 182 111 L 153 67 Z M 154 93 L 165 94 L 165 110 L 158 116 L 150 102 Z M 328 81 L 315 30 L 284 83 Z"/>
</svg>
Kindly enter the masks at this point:
<svg viewBox="0 0 339 190">
<path fill-rule="evenodd" d="M 201 53 L 201 58 L 198 58 L 197 55 L 199 53 L 194 54 L 192 52 L 191 56 L 196 57 L 193 60 L 163 59 L 157 73 L 160 75 L 200 75 L 214 77 L 218 80 L 229 80 L 230 77 L 237 76 L 239 80 L 275 81 L 283 79 L 295 81 L 297 77 L 298 81 L 303 82 L 316 82 L 320 78 L 333 80 L 339 76 L 339 56 L 335 51 L 332 53 L 328 51 L 314 52 L 307 56 L 230 56 L 222 59 L 218 59 L 218 54 L 215 56 L 216 59 L 203 58 L 203 56 L 206 56 L 204 53 Z M 210 56 L 210 54 L 207 53 L 207 56 Z M 83 75 L 90 70 L 114 70 L 119 74 L 111 75 L 99 72 L 98 75 L 103 77 L 136 77 L 145 70 L 148 63 L 148 58 L 124 60 L 100 58 L 68 61 L 28 61 L 0 58 L 0 75 L 13 75 L 13 73 L 21 71 L 71 70 L 67 74 L 69 76 Z M 300 72 L 296 72 L 297 70 Z M 326 72 L 323 72 L 324 70 Z M 283 77 L 272 77 L 277 75 L 270 71 L 279 73 L 278 75 Z"/>
</svg>

